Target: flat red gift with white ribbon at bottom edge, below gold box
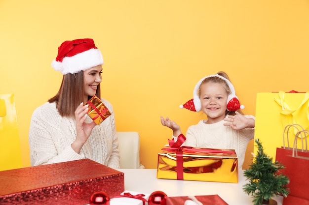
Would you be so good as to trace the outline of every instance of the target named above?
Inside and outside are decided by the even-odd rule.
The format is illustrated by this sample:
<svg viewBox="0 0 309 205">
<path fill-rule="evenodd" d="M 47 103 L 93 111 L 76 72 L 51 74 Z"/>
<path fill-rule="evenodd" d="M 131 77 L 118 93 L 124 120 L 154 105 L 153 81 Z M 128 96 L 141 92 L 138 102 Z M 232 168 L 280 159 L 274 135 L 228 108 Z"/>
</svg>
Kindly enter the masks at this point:
<svg viewBox="0 0 309 205">
<path fill-rule="evenodd" d="M 203 205 L 228 205 L 221 197 L 218 195 L 208 195 L 208 196 L 195 196 Z M 187 200 L 192 200 L 189 197 L 167 197 L 166 205 L 184 205 Z"/>
</svg>

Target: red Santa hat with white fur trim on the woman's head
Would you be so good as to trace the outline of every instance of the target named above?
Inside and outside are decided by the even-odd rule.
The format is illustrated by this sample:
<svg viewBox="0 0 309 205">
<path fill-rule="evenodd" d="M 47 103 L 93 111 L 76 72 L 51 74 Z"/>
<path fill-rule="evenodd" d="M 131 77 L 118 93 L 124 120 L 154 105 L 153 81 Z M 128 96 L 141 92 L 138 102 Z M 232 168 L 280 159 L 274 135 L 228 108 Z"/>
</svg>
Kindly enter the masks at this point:
<svg viewBox="0 0 309 205">
<path fill-rule="evenodd" d="M 51 66 L 63 75 L 78 73 L 103 64 L 100 50 L 90 38 L 63 42 L 58 48 L 58 56 Z"/>
</svg>

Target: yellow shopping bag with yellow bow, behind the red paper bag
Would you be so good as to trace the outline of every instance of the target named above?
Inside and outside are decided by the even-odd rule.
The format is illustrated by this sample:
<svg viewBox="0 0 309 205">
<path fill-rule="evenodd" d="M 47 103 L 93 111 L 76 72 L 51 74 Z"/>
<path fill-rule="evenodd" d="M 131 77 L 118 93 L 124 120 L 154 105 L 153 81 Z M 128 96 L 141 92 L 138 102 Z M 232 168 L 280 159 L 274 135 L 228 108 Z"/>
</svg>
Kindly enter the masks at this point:
<svg viewBox="0 0 309 205">
<path fill-rule="evenodd" d="M 263 142 L 267 153 L 275 159 L 276 148 L 283 146 L 284 128 L 299 124 L 309 129 L 309 92 L 261 92 L 257 93 L 254 138 Z M 290 129 L 290 136 L 297 130 Z M 294 140 L 291 139 L 291 141 Z M 299 139 L 298 148 L 301 148 Z M 257 147 L 254 147 L 254 152 Z"/>
</svg>

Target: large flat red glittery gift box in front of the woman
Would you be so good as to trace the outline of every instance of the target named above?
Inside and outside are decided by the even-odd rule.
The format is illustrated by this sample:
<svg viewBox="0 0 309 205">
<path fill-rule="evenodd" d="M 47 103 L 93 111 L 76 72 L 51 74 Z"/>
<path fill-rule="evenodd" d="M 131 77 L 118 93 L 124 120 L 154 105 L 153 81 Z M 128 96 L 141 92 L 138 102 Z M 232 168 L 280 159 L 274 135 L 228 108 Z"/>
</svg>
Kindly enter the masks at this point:
<svg viewBox="0 0 309 205">
<path fill-rule="evenodd" d="M 0 172 L 1 205 L 85 205 L 105 191 L 124 191 L 124 174 L 90 159 Z"/>
</svg>

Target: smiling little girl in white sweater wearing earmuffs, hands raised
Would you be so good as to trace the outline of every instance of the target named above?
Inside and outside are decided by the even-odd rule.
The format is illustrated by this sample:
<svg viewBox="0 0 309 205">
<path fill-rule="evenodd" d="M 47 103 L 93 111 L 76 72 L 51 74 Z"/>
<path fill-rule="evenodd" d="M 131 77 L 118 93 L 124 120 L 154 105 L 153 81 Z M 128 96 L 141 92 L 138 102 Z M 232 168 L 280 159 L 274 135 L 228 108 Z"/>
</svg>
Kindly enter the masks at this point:
<svg viewBox="0 0 309 205">
<path fill-rule="evenodd" d="M 238 168 L 242 168 L 247 145 L 254 138 L 255 117 L 241 113 L 235 90 L 225 72 L 202 78 L 193 90 L 193 99 L 182 107 L 206 114 L 188 128 L 185 146 L 235 149 Z M 161 123 L 173 130 L 175 142 L 182 133 L 180 126 L 168 117 L 161 116 Z"/>
</svg>

